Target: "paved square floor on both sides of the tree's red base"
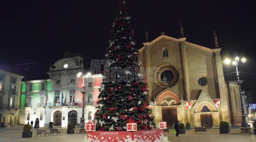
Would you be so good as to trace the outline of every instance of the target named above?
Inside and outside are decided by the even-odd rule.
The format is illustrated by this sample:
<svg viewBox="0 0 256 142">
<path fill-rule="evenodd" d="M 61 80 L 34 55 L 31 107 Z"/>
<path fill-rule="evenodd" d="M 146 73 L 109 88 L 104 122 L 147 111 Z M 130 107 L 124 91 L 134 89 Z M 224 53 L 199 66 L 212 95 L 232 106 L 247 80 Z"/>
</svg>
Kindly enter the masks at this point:
<svg viewBox="0 0 256 142">
<path fill-rule="evenodd" d="M 61 135 L 36 137 L 36 130 L 33 130 L 32 138 L 22 138 L 22 127 L 0 128 L 0 142 L 82 142 L 85 136 L 78 133 L 78 129 L 75 129 L 75 134 L 67 134 L 65 128 L 58 130 L 61 131 Z M 218 129 L 212 129 L 208 130 L 207 134 L 194 134 L 194 130 L 186 130 L 186 134 L 176 137 L 170 130 L 165 136 L 170 142 L 256 142 L 256 135 L 239 132 L 240 129 L 231 129 L 229 134 L 219 134 Z"/>
</svg>

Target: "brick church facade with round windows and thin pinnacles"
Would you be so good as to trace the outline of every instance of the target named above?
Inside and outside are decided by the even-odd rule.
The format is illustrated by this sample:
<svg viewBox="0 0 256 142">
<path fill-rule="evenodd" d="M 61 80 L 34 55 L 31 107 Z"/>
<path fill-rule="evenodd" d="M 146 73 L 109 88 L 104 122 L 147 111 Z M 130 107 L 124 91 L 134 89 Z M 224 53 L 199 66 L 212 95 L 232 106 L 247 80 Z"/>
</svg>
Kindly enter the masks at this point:
<svg viewBox="0 0 256 142">
<path fill-rule="evenodd" d="M 157 124 L 164 120 L 171 127 L 178 120 L 192 127 L 218 127 L 220 121 L 240 125 L 240 99 L 234 101 L 235 89 L 225 83 L 215 34 L 214 49 L 187 42 L 183 31 L 182 38 L 161 35 L 151 42 L 147 34 L 139 61 Z M 234 108 L 238 113 L 230 114 Z"/>
</svg>

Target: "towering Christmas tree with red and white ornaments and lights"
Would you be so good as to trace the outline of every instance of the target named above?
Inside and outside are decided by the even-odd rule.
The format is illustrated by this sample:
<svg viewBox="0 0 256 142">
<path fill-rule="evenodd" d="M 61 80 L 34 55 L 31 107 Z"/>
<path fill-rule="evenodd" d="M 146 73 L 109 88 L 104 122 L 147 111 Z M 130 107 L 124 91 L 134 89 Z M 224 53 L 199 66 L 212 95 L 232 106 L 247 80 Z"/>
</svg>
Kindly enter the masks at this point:
<svg viewBox="0 0 256 142">
<path fill-rule="evenodd" d="M 94 114 L 96 130 L 126 131 L 126 123 L 137 123 L 138 130 L 156 126 L 147 101 L 149 89 L 139 73 L 138 50 L 130 18 L 126 3 L 121 1 L 105 55 L 107 61 Z"/>
</svg>

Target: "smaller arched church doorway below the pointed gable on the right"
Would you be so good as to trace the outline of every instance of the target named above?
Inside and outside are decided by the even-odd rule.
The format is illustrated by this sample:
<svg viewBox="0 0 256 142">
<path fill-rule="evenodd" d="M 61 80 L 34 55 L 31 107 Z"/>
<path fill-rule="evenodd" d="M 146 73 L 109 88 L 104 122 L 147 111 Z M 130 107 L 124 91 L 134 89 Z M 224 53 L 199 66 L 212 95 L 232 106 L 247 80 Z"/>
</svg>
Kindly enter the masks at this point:
<svg viewBox="0 0 256 142">
<path fill-rule="evenodd" d="M 207 106 L 203 106 L 201 110 L 201 126 L 206 128 L 212 128 L 213 127 L 213 116 L 211 114 L 211 110 Z"/>
</svg>

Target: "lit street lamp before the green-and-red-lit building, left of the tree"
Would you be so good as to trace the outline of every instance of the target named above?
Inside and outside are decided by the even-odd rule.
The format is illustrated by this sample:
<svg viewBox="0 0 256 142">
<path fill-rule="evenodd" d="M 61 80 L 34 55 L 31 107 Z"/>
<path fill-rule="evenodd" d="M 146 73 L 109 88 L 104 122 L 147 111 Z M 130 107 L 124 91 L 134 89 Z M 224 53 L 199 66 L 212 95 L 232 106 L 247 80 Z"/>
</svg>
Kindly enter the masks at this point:
<svg viewBox="0 0 256 142">
<path fill-rule="evenodd" d="M 83 109 L 82 109 L 82 118 L 81 118 L 81 125 L 80 125 L 80 132 L 85 132 L 85 93 L 86 93 L 86 85 L 85 79 L 90 78 L 91 73 L 83 74 L 82 72 L 79 72 L 77 74 L 78 78 L 83 79 L 83 90 L 80 91 L 83 94 Z"/>
</svg>

